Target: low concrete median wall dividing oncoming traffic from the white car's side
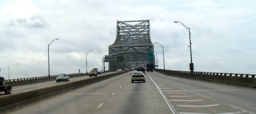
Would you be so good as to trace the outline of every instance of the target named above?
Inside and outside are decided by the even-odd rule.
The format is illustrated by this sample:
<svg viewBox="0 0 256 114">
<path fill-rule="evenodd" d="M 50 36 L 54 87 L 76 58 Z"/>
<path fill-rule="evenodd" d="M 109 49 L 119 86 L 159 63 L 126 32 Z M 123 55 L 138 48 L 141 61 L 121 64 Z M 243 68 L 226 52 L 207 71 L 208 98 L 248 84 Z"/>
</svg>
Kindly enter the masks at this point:
<svg viewBox="0 0 256 114">
<path fill-rule="evenodd" d="M 21 106 L 20 104 L 26 104 L 24 102 L 29 102 L 30 99 L 38 98 L 40 100 L 41 98 L 39 98 L 39 97 L 41 97 L 41 96 L 49 95 L 49 94 L 52 94 L 55 92 L 60 92 L 63 90 L 68 90 L 68 89 L 71 90 L 72 88 L 76 88 L 78 86 L 83 86 L 83 85 L 87 85 L 89 83 L 99 82 L 103 79 L 121 75 L 126 72 L 128 72 L 128 71 L 122 71 L 122 72 L 117 72 L 117 73 L 113 73 L 113 74 L 106 74 L 106 75 L 97 76 L 97 77 L 93 77 L 93 78 L 89 78 L 89 79 L 78 80 L 78 81 L 64 83 L 64 84 L 55 85 L 55 86 L 49 86 L 49 87 L 45 87 L 45 88 L 41 88 L 41 89 L 37 89 L 37 90 L 31 90 L 31 91 L 27 91 L 27 92 L 23 92 L 23 93 L 18 93 L 18 94 L 6 95 L 6 96 L 0 98 L 0 112 L 5 112 L 7 110 L 12 110 L 12 109 L 18 108 Z M 48 97 L 50 97 L 50 96 L 52 96 L 52 95 L 49 95 Z"/>
</svg>

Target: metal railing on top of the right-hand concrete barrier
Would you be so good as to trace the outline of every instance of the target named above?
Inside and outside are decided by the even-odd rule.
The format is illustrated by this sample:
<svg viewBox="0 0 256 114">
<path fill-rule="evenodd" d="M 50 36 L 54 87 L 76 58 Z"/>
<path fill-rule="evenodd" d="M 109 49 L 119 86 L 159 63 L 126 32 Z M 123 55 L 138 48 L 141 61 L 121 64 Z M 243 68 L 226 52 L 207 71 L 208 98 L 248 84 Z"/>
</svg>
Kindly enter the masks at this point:
<svg viewBox="0 0 256 114">
<path fill-rule="evenodd" d="M 156 69 L 163 70 L 163 69 Z M 164 70 L 172 71 L 172 70 Z M 238 74 L 238 73 L 223 73 L 223 72 L 199 72 L 199 71 L 172 71 L 176 73 L 185 73 L 185 74 L 199 74 L 199 75 L 219 75 L 219 76 L 235 76 L 235 77 L 245 77 L 245 78 L 255 78 L 255 75 L 252 74 Z"/>
</svg>

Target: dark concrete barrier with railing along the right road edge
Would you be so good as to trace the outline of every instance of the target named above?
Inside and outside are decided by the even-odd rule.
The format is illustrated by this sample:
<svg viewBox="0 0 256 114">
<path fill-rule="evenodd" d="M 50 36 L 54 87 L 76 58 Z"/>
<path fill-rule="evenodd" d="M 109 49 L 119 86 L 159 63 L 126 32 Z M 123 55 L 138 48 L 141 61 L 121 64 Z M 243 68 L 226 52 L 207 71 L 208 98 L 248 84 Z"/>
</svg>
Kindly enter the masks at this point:
<svg viewBox="0 0 256 114">
<path fill-rule="evenodd" d="M 168 70 L 162 70 L 162 69 L 156 69 L 156 71 L 163 73 L 165 75 L 171 75 L 176 77 L 200 79 L 200 80 L 209 81 L 209 82 L 226 83 L 226 84 L 232 84 L 237 86 L 247 86 L 247 87 L 256 88 L 255 78 L 223 76 L 223 75 L 191 74 L 191 73 L 181 73 L 181 72 L 168 71 Z"/>
</svg>

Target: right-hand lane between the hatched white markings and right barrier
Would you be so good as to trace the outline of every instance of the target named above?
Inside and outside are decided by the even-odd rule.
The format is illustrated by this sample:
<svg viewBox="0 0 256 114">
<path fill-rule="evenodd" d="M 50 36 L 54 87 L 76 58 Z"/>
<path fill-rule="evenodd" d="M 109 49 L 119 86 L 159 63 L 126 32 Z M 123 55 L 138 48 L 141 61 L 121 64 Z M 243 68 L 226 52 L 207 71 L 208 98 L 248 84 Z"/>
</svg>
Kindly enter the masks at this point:
<svg viewBox="0 0 256 114">
<path fill-rule="evenodd" d="M 173 77 L 158 72 L 152 72 L 150 75 L 153 75 L 155 79 L 201 94 L 201 97 L 212 99 L 237 110 L 247 113 L 256 112 L 256 91 L 253 88 Z M 188 92 L 186 90 L 180 92 Z"/>
</svg>

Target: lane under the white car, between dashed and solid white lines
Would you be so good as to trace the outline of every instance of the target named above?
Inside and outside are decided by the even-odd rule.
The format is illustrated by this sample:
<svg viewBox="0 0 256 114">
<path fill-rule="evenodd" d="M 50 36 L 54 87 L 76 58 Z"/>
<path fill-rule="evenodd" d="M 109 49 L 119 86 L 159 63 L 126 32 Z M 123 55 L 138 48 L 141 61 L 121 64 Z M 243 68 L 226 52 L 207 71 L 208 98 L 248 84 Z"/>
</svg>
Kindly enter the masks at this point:
<svg viewBox="0 0 256 114">
<path fill-rule="evenodd" d="M 124 80 L 128 83 L 123 89 L 116 91 L 115 97 L 109 98 L 95 114 L 172 114 L 148 75 L 145 83 L 131 83 L 130 76 Z"/>
</svg>

